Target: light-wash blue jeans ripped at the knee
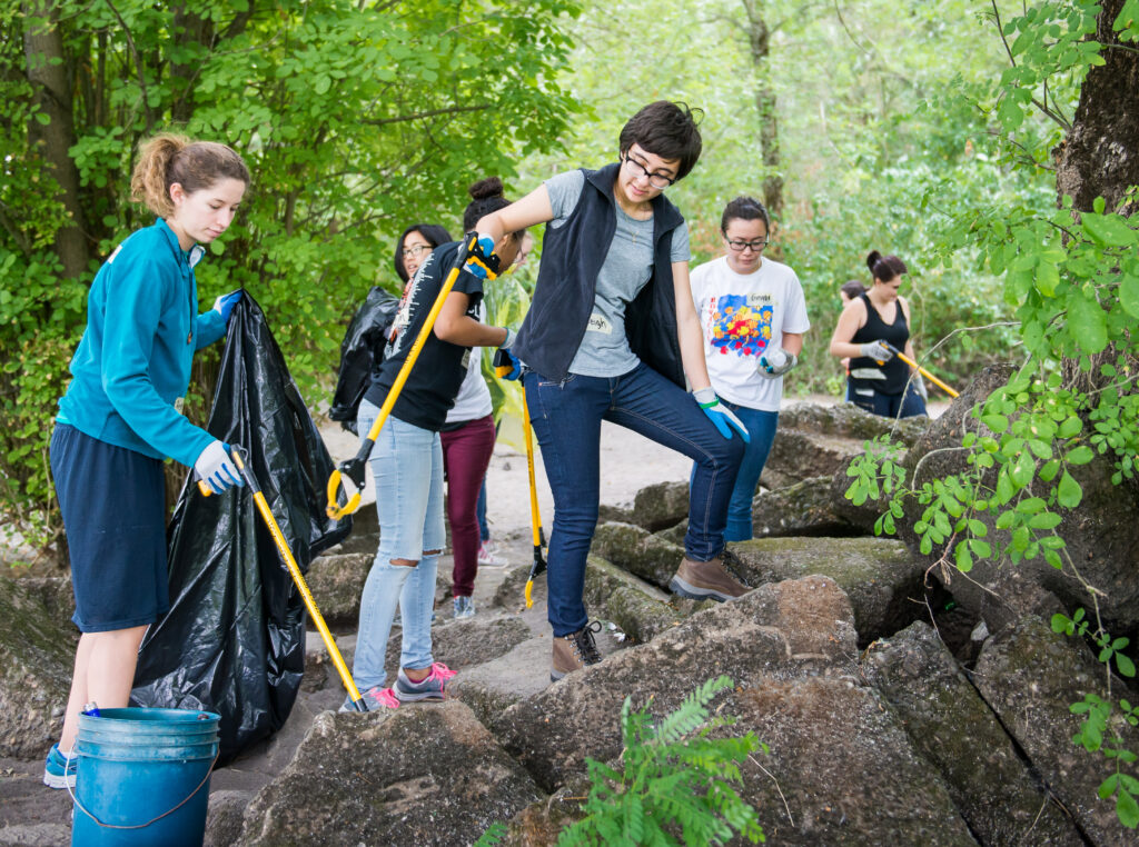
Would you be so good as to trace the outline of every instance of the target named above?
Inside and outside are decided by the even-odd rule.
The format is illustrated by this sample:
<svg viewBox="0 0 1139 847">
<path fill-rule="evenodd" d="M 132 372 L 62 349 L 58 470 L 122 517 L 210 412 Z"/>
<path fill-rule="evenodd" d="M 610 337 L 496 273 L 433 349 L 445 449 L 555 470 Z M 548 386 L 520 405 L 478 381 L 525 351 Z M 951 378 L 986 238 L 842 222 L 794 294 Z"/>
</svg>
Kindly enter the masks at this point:
<svg viewBox="0 0 1139 847">
<path fill-rule="evenodd" d="M 360 402 L 358 431 L 371 429 L 379 410 Z M 379 550 L 360 599 L 352 677 L 361 692 L 383 685 L 387 636 L 395 607 L 403 616 L 401 667 L 431 667 L 435 571 L 446 543 L 443 525 L 443 447 L 439 433 L 388 417 L 371 451 L 379 513 Z M 424 551 L 433 551 L 426 553 Z M 393 559 L 417 561 L 413 567 Z"/>
</svg>

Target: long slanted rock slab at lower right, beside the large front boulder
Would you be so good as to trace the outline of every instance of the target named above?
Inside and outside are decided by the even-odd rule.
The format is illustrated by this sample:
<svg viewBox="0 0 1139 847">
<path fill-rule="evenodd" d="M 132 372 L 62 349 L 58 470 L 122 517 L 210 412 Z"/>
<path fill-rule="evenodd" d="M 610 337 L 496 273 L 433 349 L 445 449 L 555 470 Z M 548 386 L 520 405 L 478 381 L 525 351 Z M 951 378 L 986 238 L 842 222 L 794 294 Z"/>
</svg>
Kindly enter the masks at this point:
<svg viewBox="0 0 1139 847">
<path fill-rule="evenodd" d="M 1083 845 L 928 624 L 919 620 L 875 643 L 862 667 L 983 844 Z"/>
</svg>

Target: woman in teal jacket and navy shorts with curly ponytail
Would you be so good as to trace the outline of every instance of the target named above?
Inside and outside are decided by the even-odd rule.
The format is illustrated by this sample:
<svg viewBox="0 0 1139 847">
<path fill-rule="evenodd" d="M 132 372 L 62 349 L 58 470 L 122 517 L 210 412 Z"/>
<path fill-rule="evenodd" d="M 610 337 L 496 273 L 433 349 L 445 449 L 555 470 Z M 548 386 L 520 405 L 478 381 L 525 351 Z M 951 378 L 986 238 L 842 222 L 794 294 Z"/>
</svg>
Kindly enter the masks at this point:
<svg viewBox="0 0 1139 847">
<path fill-rule="evenodd" d="M 241 485 L 228 446 L 181 414 L 197 350 L 226 334 L 240 293 L 198 314 L 194 266 L 233 220 L 249 172 L 233 150 L 157 135 L 139 151 L 134 200 L 158 216 L 96 274 L 87 330 L 59 401 L 51 472 L 71 554 L 75 651 L 64 730 L 43 782 L 75 783 L 85 704 L 126 706 L 139 643 L 170 608 L 163 460 L 191 466 L 216 493 Z"/>
</svg>

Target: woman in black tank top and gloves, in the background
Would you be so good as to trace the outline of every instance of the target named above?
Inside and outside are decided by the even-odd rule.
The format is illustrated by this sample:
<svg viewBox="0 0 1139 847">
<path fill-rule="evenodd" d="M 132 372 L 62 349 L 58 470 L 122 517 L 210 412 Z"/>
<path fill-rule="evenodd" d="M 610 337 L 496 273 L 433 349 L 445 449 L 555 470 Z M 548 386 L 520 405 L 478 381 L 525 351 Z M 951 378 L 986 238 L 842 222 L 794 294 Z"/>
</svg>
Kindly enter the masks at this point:
<svg viewBox="0 0 1139 847">
<path fill-rule="evenodd" d="M 906 263 L 877 250 L 866 263 L 874 285 L 846 305 L 830 339 L 830 355 L 850 357 L 846 396 L 860 409 L 886 418 L 925 414 L 921 375 L 891 350 L 917 361 L 910 340 L 910 305 L 898 294 Z"/>
</svg>

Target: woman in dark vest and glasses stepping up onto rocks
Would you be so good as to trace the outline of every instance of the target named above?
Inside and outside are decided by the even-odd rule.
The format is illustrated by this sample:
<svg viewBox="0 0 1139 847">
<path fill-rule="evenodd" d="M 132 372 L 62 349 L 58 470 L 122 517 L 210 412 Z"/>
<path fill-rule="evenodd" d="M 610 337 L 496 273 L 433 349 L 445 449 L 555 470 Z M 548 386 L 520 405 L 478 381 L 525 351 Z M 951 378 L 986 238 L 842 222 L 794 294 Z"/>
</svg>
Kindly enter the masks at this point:
<svg viewBox="0 0 1139 847">
<path fill-rule="evenodd" d="M 510 354 L 524 372 L 554 492 L 551 680 L 600 660 L 582 592 L 603 420 L 696 462 L 673 589 L 721 601 L 748 590 L 723 567 L 728 499 L 747 430 L 711 388 L 688 282 L 688 229 L 663 195 L 699 153 L 691 110 L 661 100 L 625 124 L 620 162 L 558 174 L 476 225 L 480 240 L 493 244 L 503 232 L 548 224 L 533 302 Z"/>
</svg>

